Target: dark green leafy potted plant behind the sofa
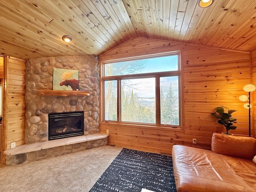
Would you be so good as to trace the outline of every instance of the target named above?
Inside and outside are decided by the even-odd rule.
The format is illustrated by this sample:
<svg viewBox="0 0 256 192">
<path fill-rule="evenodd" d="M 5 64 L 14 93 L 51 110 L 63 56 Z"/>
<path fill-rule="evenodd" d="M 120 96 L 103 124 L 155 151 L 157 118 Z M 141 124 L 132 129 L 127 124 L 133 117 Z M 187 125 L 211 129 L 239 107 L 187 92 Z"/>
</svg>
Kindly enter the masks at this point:
<svg viewBox="0 0 256 192">
<path fill-rule="evenodd" d="M 228 112 L 226 113 L 224 109 L 226 109 Z M 228 130 L 236 129 L 236 126 L 233 125 L 233 123 L 236 123 L 236 119 L 232 118 L 231 114 L 237 110 L 230 110 L 229 108 L 227 108 L 225 106 L 216 107 L 215 110 L 216 110 L 216 112 L 212 113 L 212 115 L 214 115 L 216 118 L 218 118 L 219 119 L 218 123 L 221 125 L 224 125 L 227 130 L 226 133 L 225 132 L 222 132 L 222 133 L 232 135 L 231 133 L 228 133 Z"/>
</svg>

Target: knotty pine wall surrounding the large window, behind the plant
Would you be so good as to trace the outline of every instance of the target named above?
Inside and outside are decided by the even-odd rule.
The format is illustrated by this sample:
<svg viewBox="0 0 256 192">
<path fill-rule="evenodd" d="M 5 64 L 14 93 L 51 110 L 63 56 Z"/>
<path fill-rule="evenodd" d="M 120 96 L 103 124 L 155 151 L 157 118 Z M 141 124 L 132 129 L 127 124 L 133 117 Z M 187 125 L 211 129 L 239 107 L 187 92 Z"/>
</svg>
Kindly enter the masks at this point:
<svg viewBox="0 0 256 192">
<path fill-rule="evenodd" d="M 102 121 L 101 114 L 100 129 L 102 132 L 109 130 L 110 144 L 171 154 L 174 144 L 200 147 L 192 144 L 192 139 L 196 138 L 203 146 L 210 147 L 212 133 L 226 130 L 211 116 L 214 108 L 221 105 L 238 110 L 233 114 L 238 128 L 230 132 L 248 136 L 248 111 L 238 97 L 246 94 L 243 87 L 251 83 L 249 52 L 134 38 L 101 55 L 100 60 L 177 50 L 181 51 L 182 65 L 182 130 L 112 124 Z"/>
</svg>

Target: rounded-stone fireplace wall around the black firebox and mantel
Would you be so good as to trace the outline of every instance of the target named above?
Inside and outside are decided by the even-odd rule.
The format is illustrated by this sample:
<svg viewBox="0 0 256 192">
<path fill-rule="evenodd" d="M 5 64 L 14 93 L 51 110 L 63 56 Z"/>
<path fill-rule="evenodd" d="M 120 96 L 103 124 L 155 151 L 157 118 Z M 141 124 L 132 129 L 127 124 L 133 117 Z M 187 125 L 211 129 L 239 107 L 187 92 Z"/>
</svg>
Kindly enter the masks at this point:
<svg viewBox="0 0 256 192">
<path fill-rule="evenodd" d="M 52 90 L 53 68 L 78 70 L 79 90 L 90 96 L 38 96 L 38 90 Z M 90 55 L 27 60 L 25 144 L 48 140 L 52 112 L 84 111 L 84 135 L 99 133 L 99 70 L 98 57 Z"/>
</svg>

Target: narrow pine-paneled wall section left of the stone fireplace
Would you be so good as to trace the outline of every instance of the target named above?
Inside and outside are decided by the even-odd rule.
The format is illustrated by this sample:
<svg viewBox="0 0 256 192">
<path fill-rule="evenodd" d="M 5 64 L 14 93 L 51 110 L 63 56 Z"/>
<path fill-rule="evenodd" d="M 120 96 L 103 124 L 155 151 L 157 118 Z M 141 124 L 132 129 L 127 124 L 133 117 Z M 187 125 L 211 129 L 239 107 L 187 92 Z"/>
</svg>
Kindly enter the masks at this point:
<svg viewBox="0 0 256 192">
<path fill-rule="evenodd" d="M 3 146 L 2 151 L 24 144 L 25 128 L 25 68 L 26 61 L 4 58 L 4 117 L 3 117 Z M 2 154 L 2 163 L 4 156 Z"/>
</svg>

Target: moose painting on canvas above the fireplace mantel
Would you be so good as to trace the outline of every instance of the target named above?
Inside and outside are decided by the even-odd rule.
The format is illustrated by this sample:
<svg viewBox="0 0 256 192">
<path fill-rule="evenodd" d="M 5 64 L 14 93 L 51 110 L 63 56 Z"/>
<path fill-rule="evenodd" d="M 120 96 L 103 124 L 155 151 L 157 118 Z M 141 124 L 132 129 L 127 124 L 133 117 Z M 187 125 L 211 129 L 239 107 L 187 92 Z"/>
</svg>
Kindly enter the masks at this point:
<svg viewBox="0 0 256 192">
<path fill-rule="evenodd" d="M 78 89 L 78 70 L 53 69 L 53 90 Z"/>
</svg>

